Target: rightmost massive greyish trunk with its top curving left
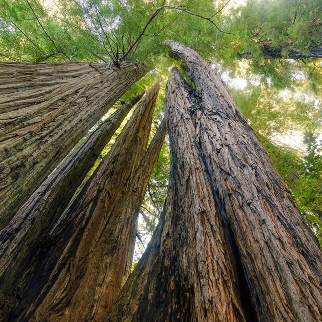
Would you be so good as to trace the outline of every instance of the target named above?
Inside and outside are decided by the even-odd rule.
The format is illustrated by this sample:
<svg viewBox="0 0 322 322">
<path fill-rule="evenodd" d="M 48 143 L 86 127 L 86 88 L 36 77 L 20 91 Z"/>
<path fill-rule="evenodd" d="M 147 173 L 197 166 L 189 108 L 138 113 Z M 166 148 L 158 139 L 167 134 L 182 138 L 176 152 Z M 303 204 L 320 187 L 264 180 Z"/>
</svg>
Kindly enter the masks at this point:
<svg viewBox="0 0 322 322">
<path fill-rule="evenodd" d="M 169 42 L 196 91 L 195 143 L 231 227 L 259 321 L 318 321 L 322 253 L 220 77 L 194 50 Z"/>
</svg>

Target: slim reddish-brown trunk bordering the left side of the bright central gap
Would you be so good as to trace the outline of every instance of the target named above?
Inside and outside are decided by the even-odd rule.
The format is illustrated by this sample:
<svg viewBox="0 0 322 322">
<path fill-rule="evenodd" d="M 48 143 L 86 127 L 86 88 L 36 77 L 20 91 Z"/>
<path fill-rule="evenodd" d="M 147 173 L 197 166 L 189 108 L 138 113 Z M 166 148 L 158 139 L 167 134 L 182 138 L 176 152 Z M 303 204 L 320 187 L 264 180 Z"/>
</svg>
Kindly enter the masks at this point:
<svg viewBox="0 0 322 322">
<path fill-rule="evenodd" d="M 94 259 L 93 257 L 90 259 L 86 275 L 82 278 L 69 307 L 65 309 L 62 321 L 105 321 L 108 309 L 129 275 L 128 263 L 132 262 L 132 259 L 129 261 L 127 254 L 135 242 L 132 236 L 136 228 L 138 208 L 144 198 L 165 135 L 166 122 L 163 121 L 134 177 L 128 182 L 126 191 L 110 210 L 108 224 L 101 240 L 95 246 L 96 251 L 93 251 Z M 84 296 L 84 290 L 88 292 L 87 296 Z M 88 307 L 89 310 L 84 311 L 84 307 Z M 57 320 L 55 306 L 51 305 L 50 309 L 49 316 L 45 319 L 42 316 L 41 321 Z M 41 310 L 36 314 L 40 312 L 43 314 Z"/>
</svg>

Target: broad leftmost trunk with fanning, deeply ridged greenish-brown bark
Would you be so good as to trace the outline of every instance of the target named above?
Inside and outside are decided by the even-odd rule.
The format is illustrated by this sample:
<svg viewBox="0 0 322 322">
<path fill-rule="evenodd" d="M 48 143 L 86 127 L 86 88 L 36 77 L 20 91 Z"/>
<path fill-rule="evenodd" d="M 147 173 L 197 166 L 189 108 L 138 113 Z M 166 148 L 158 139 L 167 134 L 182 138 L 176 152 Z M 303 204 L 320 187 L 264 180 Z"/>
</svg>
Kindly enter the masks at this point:
<svg viewBox="0 0 322 322">
<path fill-rule="evenodd" d="M 129 64 L 0 64 L 0 229 L 142 75 Z"/>
</svg>

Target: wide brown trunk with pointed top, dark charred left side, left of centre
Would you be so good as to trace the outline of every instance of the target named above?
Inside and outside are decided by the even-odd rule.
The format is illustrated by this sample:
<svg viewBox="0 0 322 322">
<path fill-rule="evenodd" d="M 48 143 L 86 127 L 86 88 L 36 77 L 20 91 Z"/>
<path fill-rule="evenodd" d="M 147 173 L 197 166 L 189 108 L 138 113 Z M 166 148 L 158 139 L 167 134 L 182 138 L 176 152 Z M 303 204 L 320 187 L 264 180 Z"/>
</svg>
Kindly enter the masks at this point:
<svg viewBox="0 0 322 322">
<path fill-rule="evenodd" d="M 54 244 L 37 269 L 35 282 L 23 292 L 15 320 L 88 321 L 104 314 L 117 295 L 127 262 L 127 252 L 117 249 L 129 247 L 131 233 L 119 236 L 119 226 L 111 222 L 126 229 L 133 222 L 135 209 L 123 209 L 122 200 L 127 200 L 146 151 L 159 87 L 156 83 L 139 103 L 110 152 L 62 215 L 51 233 Z M 122 209 L 124 220 L 119 218 Z M 124 243 L 115 237 L 110 241 L 113 234 L 123 237 Z"/>
</svg>

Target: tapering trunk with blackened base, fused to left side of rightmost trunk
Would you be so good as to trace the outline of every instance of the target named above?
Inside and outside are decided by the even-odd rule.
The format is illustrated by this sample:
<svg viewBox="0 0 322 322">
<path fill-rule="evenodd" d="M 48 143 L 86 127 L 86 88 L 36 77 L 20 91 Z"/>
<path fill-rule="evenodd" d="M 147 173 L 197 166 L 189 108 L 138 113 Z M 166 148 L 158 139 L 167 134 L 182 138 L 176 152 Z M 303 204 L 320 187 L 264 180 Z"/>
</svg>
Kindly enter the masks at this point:
<svg viewBox="0 0 322 322">
<path fill-rule="evenodd" d="M 193 140 L 189 92 L 173 70 L 165 101 L 171 147 L 167 201 L 108 321 L 246 321 L 232 245 Z"/>
</svg>

